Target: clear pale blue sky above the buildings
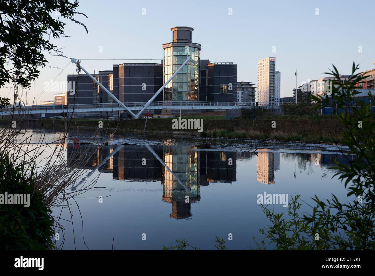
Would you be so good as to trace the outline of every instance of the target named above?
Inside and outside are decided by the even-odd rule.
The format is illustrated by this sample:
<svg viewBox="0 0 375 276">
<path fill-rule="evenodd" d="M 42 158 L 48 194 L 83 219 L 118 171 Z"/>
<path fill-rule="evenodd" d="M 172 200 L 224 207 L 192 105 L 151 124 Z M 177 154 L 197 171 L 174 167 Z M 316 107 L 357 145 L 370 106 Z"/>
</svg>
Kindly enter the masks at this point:
<svg viewBox="0 0 375 276">
<path fill-rule="evenodd" d="M 238 81 L 256 84 L 258 60 L 275 56 L 284 97 L 291 97 L 296 68 L 300 85 L 324 77 L 331 64 L 342 74 L 350 74 L 353 60 L 360 63 L 362 71 L 375 67 L 374 6 L 373 1 L 81 0 L 78 11 L 89 18 L 75 18 L 87 26 L 89 34 L 83 27 L 68 23 L 65 32 L 70 37 L 53 42 L 63 47 L 66 56 L 76 59 L 150 59 L 148 62 L 160 63 L 162 44 L 172 40 L 170 28 L 189 26 L 194 28 L 192 41 L 202 45 L 201 59 L 236 63 Z M 233 15 L 228 14 L 229 9 Z M 49 66 L 58 68 L 69 63 L 69 59 L 49 54 L 46 59 Z M 82 60 L 81 65 L 89 72 L 98 72 L 130 62 L 146 60 Z M 61 70 L 45 67 L 40 71 L 36 96 Z M 66 81 L 66 75 L 72 73 L 69 64 L 56 81 Z M 37 103 L 53 100 L 57 92 L 44 92 Z M 0 95 L 12 92 L 2 89 Z M 30 90 L 28 99 L 32 97 Z"/>
</svg>

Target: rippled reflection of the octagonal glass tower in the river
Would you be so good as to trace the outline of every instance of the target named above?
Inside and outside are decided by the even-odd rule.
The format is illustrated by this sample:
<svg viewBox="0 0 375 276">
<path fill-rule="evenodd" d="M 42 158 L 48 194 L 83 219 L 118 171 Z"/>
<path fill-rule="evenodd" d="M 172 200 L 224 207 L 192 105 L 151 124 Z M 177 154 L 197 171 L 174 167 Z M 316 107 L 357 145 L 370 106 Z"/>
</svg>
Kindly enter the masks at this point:
<svg viewBox="0 0 375 276">
<path fill-rule="evenodd" d="M 172 203 L 172 213 L 174 219 L 184 219 L 191 217 L 191 202 L 197 201 L 199 195 L 198 183 L 198 152 L 191 151 L 192 146 L 165 146 L 163 151 L 163 161 L 175 174 L 189 192 L 175 179 L 166 167 L 163 167 L 163 196 L 162 200 Z M 189 202 L 186 201 L 189 196 Z"/>
</svg>

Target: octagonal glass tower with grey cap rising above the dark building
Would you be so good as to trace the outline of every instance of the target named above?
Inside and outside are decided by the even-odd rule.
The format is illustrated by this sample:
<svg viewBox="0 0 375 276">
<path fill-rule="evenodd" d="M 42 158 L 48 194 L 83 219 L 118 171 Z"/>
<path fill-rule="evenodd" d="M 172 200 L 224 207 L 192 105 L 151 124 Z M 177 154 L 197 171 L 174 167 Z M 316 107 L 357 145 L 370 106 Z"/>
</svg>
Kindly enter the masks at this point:
<svg viewBox="0 0 375 276">
<path fill-rule="evenodd" d="M 163 83 L 172 77 L 187 57 L 190 61 L 165 86 L 164 101 L 198 101 L 200 78 L 200 51 L 201 44 L 191 42 L 190 27 L 174 27 L 173 42 L 163 44 Z"/>
</svg>

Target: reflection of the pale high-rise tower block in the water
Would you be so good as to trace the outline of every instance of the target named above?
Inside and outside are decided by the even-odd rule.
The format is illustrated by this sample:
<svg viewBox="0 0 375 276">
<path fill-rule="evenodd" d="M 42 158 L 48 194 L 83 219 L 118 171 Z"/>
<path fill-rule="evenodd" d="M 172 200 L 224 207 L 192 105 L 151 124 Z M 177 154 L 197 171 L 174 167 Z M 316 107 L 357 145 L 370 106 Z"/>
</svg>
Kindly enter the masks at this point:
<svg viewBox="0 0 375 276">
<path fill-rule="evenodd" d="M 257 180 L 263 184 L 275 184 L 275 170 L 280 169 L 280 154 L 258 152 Z"/>
</svg>

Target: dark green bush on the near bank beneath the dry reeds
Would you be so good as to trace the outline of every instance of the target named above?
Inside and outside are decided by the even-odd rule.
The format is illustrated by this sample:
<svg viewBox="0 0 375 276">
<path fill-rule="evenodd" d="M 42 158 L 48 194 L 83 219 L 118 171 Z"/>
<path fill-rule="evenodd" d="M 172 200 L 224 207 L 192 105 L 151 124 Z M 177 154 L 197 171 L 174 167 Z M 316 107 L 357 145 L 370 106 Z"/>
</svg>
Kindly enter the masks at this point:
<svg viewBox="0 0 375 276">
<path fill-rule="evenodd" d="M 0 195 L 29 195 L 29 206 L 0 204 L 0 250 L 52 249 L 50 210 L 38 190 L 34 190 L 34 171 L 26 172 L 24 164 L 15 164 L 8 154 L 0 154 Z M 7 198 L 3 198 L 7 201 Z M 8 202 L 8 201 L 7 201 Z"/>
</svg>

